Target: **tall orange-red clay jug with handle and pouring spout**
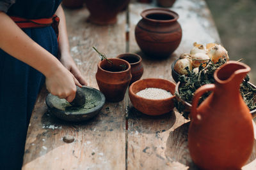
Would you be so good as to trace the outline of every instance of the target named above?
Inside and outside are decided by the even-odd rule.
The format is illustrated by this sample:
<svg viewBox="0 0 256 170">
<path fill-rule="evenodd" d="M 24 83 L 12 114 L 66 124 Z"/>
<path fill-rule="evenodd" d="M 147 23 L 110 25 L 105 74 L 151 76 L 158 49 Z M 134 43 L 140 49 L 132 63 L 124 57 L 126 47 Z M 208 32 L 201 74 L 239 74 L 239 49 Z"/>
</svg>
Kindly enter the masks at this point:
<svg viewBox="0 0 256 170">
<path fill-rule="evenodd" d="M 250 67 L 230 61 L 214 72 L 215 84 L 195 92 L 189 127 L 189 153 L 202 169 L 240 169 L 253 148 L 252 115 L 239 92 Z M 212 93 L 197 107 L 204 92 Z"/>
</svg>

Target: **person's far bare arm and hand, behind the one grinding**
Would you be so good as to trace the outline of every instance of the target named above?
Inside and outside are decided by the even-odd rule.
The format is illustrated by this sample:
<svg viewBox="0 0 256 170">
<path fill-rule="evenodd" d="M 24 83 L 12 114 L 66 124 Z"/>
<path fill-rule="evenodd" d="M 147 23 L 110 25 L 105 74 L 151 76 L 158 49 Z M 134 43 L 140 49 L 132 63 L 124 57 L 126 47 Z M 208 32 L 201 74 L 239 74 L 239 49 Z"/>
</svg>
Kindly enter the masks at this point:
<svg viewBox="0 0 256 170">
<path fill-rule="evenodd" d="M 70 47 L 68 43 L 68 36 L 67 36 L 67 26 L 66 26 L 66 19 L 64 11 L 61 5 L 58 7 L 56 13 L 58 17 L 60 17 L 60 25 L 59 25 L 59 48 L 60 48 L 60 61 L 82 85 L 87 85 L 86 81 L 84 80 L 82 74 L 80 73 L 79 69 L 76 66 L 76 63 L 72 59 L 70 55 Z"/>
</svg>

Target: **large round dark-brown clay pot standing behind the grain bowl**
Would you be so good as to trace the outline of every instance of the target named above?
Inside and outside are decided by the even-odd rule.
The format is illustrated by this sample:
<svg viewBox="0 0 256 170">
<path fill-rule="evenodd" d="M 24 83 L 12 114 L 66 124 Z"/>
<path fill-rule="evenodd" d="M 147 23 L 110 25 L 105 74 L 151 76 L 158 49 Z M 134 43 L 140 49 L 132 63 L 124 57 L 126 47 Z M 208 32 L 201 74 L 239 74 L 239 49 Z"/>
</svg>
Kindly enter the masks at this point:
<svg viewBox="0 0 256 170">
<path fill-rule="evenodd" d="M 150 57 L 168 57 L 179 46 L 182 29 L 179 15 L 165 8 L 141 12 L 142 19 L 135 28 L 135 38 L 142 52 Z"/>
</svg>

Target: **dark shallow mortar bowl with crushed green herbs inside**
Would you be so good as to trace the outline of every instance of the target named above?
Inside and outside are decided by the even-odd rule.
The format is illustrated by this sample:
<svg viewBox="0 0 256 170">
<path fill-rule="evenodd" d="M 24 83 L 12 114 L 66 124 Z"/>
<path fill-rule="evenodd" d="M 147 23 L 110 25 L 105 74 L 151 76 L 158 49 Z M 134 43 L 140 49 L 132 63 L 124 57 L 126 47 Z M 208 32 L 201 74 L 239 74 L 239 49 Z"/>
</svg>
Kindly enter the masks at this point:
<svg viewBox="0 0 256 170">
<path fill-rule="evenodd" d="M 99 114 L 105 104 L 106 99 L 104 94 L 92 87 L 83 86 L 81 89 L 86 97 L 86 103 L 80 107 L 74 107 L 65 99 L 60 99 L 57 96 L 48 94 L 45 103 L 48 106 L 50 113 L 68 122 L 88 120 Z"/>
</svg>

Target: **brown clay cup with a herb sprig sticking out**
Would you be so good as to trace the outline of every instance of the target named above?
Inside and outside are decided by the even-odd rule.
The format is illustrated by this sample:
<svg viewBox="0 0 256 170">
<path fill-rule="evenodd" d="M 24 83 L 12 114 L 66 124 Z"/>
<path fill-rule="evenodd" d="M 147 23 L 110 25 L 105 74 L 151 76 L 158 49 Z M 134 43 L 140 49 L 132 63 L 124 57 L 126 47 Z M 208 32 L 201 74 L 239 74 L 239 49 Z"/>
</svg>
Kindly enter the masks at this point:
<svg viewBox="0 0 256 170">
<path fill-rule="evenodd" d="M 105 95 L 106 101 L 118 102 L 124 99 L 125 91 L 131 81 L 131 65 L 122 59 L 102 60 L 98 64 L 96 80 L 100 91 Z M 122 66 L 126 69 L 122 71 Z"/>
</svg>

